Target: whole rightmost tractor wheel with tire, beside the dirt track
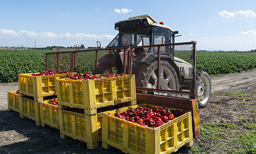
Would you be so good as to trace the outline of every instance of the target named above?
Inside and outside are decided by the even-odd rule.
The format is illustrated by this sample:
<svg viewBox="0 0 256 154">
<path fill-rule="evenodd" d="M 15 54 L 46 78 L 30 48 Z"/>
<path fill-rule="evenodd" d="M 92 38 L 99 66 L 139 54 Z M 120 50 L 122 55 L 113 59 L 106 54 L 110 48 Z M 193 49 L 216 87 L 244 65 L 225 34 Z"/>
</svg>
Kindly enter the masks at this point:
<svg viewBox="0 0 256 154">
<path fill-rule="evenodd" d="M 206 107 L 211 95 L 210 76 L 205 71 L 196 72 L 196 97 L 199 108 Z"/>
</svg>

